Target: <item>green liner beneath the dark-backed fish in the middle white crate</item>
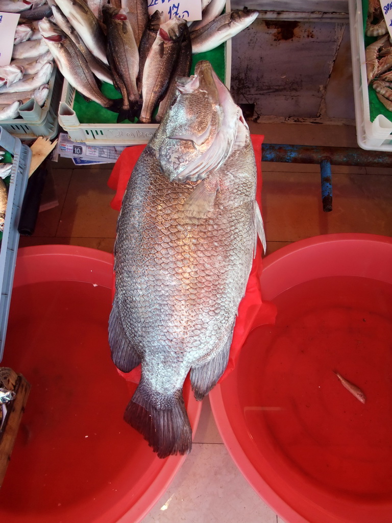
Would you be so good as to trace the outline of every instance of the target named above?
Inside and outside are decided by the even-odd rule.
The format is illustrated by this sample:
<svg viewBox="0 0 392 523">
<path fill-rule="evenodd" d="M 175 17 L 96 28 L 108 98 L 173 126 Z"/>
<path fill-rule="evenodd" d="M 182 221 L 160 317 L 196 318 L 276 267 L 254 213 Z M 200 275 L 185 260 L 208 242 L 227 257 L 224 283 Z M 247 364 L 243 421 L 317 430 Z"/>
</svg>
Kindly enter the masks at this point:
<svg viewBox="0 0 392 523">
<path fill-rule="evenodd" d="M 194 54 L 192 58 L 192 66 L 190 74 L 194 73 L 194 66 L 200 60 L 208 60 L 215 73 L 221 78 L 222 82 L 225 83 L 225 44 L 221 43 L 220 46 L 207 51 L 205 53 Z M 121 94 L 111 84 L 106 82 L 102 83 L 101 92 L 111 99 L 121 98 Z M 377 100 L 378 101 L 378 100 Z M 95 101 L 87 101 L 77 91 L 75 93 L 73 109 L 80 123 L 117 123 L 118 113 L 109 111 L 105 107 L 100 106 Z M 134 122 L 130 120 L 124 120 L 124 123 L 137 123 L 137 119 Z"/>
</svg>

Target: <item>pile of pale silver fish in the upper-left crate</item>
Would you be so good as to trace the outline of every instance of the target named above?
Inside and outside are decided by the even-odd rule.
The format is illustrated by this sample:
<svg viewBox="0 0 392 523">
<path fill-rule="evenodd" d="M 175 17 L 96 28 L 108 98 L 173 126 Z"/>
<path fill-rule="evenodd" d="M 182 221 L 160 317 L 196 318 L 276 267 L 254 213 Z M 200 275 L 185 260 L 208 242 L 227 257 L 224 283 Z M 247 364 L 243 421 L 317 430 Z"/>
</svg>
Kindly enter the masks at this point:
<svg viewBox="0 0 392 523">
<path fill-rule="evenodd" d="M 24 4 L 18 0 L 0 0 L 0 10 L 2 2 L 9 4 L 5 6 L 7 9 L 18 9 L 19 4 Z M 53 65 L 52 53 L 42 38 L 38 22 L 18 24 L 11 63 L 0 67 L 0 121 L 18 118 L 20 106 L 31 98 L 36 99 L 40 107 L 44 105 Z"/>
</svg>

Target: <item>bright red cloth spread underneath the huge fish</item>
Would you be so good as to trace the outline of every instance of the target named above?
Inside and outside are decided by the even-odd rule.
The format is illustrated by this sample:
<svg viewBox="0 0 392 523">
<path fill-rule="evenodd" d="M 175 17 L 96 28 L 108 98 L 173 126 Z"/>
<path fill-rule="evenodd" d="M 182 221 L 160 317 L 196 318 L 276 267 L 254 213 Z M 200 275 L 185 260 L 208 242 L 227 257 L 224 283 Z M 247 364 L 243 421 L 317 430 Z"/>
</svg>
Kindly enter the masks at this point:
<svg viewBox="0 0 392 523">
<path fill-rule="evenodd" d="M 257 189 L 256 189 L 256 200 L 261 209 L 261 144 L 263 142 L 263 135 L 251 134 L 251 140 L 253 150 L 255 151 L 256 166 L 257 166 Z M 132 170 L 143 151 L 145 145 L 134 145 L 127 147 L 119 156 L 116 164 L 113 167 L 110 175 L 108 186 L 116 190 L 116 196 L 114 196 L 110 205 L 113 209 L 120 210 L 122 198 L 128 184 L 128 180 L 131 176 Z M 230 356 L 227 364 L 227 368 L 221 377 L 222 381 L 227 374 L 229 374 L 235 367 L 240 350 L 245 343 L 245 340 L 252 330 L 252 328 L 258 325 L 266 323 L 274 323 L 276 316 L 275 305 L 270 302 L 265 302 L 261 299 L 261 288 L 260 288 L 260 276 L 262 270 L 261 260 L 262 246 L 260 241 L 257 245 L 256 257 L 253 260 L 252 269 L 250 271 L 248 284 L 246 287 L 245 297 L 241 300 L 238 308 L 238 316 L 236 319 L 233 341 L 230 347 Z M 114 294 L 114 279 L 113 279 L 113 294 Z M 140 366 L 131 372 L 119 373 L 128 381 L 139 382 L 140 380 Z"/>
</svg>

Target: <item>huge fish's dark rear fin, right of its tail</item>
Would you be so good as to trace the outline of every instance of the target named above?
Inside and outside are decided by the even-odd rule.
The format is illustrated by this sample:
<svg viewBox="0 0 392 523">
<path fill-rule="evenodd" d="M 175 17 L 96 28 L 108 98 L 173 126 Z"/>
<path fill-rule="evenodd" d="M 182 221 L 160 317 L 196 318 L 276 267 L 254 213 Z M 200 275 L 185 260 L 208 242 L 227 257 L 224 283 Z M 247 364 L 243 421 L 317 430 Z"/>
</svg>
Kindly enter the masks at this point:
<svg viewBox="0 0 392 523">
<path fill-rule="evenodd" d="M 211 358 L 204 365 L 191 367 L 190 380 L 194 397 L 201 401 L 203 397 L 210 392 L 216 385 L 222 374 L 226 370 L 230 354 L 230 345 L 232 344 L 234 331 L 234 322 L 230 333 L 216 356 Z"/>
</svg>

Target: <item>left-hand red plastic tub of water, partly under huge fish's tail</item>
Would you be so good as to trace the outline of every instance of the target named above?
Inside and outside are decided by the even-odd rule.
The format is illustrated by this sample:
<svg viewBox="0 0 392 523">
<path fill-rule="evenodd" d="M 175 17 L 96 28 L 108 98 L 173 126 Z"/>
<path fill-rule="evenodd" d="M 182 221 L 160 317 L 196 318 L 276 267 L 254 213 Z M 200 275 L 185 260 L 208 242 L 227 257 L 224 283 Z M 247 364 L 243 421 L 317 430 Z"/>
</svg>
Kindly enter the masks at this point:
<svg viewBox="0 0 392 523">
<path fill-rule="evenodd" d="M 2 366 L 32 386 L 2 521 L 140 521 L 185 459 L 158 459 L 122 419 L 136 384 L 110 359 L 112 272 L 112 256 L 95 249 L 19 249 Z M 201 403 L 188 382 L 184 396 L 194 433 Z"/>
</svg>

